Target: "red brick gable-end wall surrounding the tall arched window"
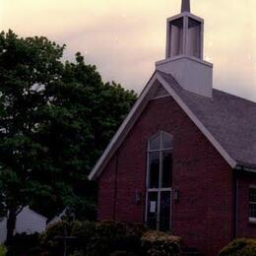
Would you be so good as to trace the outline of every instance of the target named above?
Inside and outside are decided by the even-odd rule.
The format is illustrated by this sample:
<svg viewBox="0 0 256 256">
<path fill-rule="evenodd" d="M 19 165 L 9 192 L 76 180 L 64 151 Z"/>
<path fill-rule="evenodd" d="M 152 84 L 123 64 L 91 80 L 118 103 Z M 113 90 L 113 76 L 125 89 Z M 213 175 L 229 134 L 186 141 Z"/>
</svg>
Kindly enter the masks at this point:
<svg viewBox="0 0 256 256">
<path fill-rule="evenodd" d="M 231 169 L 170 96 L 150 101 L 119 148 L 117 164 L 115 156 L 101 174 L 98 218 L 144 222 L 147 142 L 160 130 L 174 137 L 172 188 L 180 191 L 180 202 L 172 205 L 172 230 L 184 244 L 216 255 L 232 236 Z"/>
</svg>

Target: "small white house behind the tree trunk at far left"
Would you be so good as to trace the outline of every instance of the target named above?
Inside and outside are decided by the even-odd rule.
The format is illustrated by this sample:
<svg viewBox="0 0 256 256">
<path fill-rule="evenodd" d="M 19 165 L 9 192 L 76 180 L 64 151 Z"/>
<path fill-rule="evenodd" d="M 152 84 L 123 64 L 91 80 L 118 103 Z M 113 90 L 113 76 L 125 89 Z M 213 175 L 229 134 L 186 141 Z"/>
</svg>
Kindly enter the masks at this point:
<svg viewBox="0 0 256 256">
<path fill-rule="evenodd" d="M 25 207 L 17 216 L 14 233 L 32 234 L 45 230 L 47 218 L 32 211 L 29 206 Z M 4 243 L 7 235 L 7 218 L 0 219 L 0 243 Z"/>
</svg>

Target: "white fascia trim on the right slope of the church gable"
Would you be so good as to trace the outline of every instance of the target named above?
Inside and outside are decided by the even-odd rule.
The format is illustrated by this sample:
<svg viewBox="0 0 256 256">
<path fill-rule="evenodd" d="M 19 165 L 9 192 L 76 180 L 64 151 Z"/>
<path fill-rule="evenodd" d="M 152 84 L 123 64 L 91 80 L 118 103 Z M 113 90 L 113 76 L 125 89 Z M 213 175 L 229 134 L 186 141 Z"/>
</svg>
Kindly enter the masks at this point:
<svg viewBox="0 0 256 256">
<path fill-rule="evenodd" d="M 174 98 L 183 111 L 189 116 L 189 118 L 195 123 L 199 130 L 207 137 L 207 139 L 214 145 L 217 151 L 223 156 L 224 160 L 228 162 L 231 168 L 236 166 L 236 161 L 233 160 L 221 146 L 221 144 L 214 138 L 210 131 L 204 126 L 204 124 L 195 116 L 195 114 L 189 109 L 189 107 L 182 101 L 182 99 L 169 87 L 169 85 L 157 74 L 157 79 L 164 89 Z"/>
</svg>

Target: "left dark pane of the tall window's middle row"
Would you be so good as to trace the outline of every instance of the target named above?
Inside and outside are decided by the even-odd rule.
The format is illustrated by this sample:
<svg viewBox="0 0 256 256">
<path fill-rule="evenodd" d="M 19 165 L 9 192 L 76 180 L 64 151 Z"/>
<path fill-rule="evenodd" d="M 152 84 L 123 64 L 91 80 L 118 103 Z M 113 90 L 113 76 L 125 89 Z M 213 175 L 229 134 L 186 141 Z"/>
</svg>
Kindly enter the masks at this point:
<svg viewBox="0 0 256 256">
<path fill-rule="evenodd" d="M 160 186 L 160 153 L 150 153 L 150 188 L 159 188 Z"/>
</svg>

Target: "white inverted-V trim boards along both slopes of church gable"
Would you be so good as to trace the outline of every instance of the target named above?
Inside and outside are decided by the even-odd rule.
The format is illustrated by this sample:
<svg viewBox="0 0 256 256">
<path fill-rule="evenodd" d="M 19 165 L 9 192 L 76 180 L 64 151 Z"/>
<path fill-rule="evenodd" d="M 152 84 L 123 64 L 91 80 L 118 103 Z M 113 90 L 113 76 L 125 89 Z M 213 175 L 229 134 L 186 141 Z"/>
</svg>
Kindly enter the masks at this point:
<svg viewBox="0 0 256 256">
<path fill-rule="evenodd" d="M 96 180 L 96 178 L 101 174 L 103 168 L 106 166 L 108 160 L 110 160 L 115 151 L 121 145 L 126 135 L 131 130 L 133 124 L 141 115 L 143 109 L 147 105 L 148 101 L 151 99 L 151 96 L 154 92 L 154 85 L 156 83 L 160 83 L 161 86 L 169 93 L 170 96 L 174 98 L 174 100 L 178 103 L 181 109 L 188 115 L 188 117 L 194 122 L 194 124 L 199 128 L 199 130 L 207 137 L 207 139 L 212 143 L 212 145 L 216 148 L 216 150 L 223 156 L 224 160 L 230 165 L 231 168 L 236 166 L 236 161 L 233 160 L 228 153 L 224 150 L 221 144 L 214 138 L 214 136 L 210 133 L 210 131 L 204 126 L 204 124 L 195 116 L 195 114 L 189 109 L 189 107 L 185 104 L 185 102 L 178 96 L 171 87 L 165 82 L 165 80 L 160 76 L 159 72 L 156 71 L 149 83 L 137 99 L 134 104 L 132 110 L 117 130 L 116 134 L 108 144 L 107 148 L 96 162 L 95 167 L 89 175 L 90 180 Z M 155 87 L 157 89 L 157 87 Z M 153 90 L 152 90 L 153 89 Z"/>
</svg>

